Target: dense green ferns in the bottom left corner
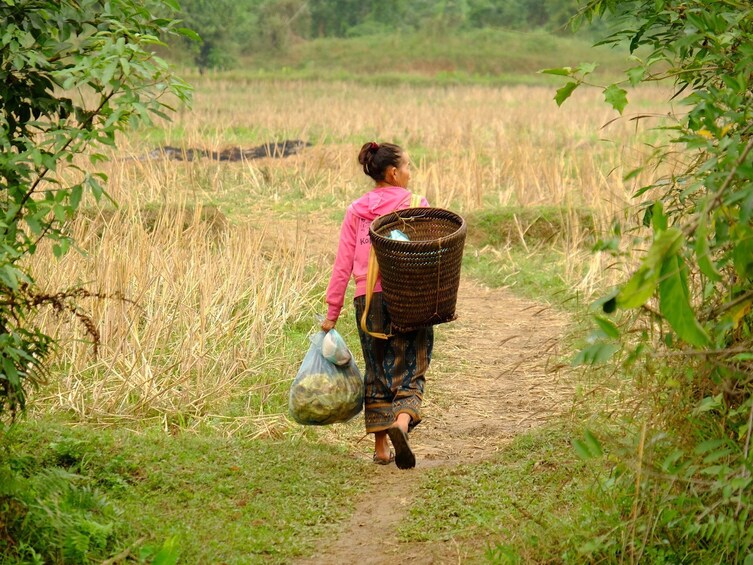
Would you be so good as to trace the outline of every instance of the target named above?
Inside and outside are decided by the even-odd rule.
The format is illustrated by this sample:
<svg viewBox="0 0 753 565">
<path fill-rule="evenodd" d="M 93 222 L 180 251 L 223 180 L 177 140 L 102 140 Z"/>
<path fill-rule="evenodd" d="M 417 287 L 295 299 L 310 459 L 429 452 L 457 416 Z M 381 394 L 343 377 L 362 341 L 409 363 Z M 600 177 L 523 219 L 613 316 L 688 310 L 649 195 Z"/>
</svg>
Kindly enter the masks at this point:
<svg viewBox="0 0 753 565">
<path fill-rule="evenodd" d="M 143 543 L 144 538 L 122 549 L 127 516 L 111 493 L 128 487 L 123 475 L 133 470 L 124 468 L 123 459 L 99 465 L 87 442 L 45 431 L 45 441 L 53 441 L 31 452 L 20 429 L 2 429 L 0 560 L 83 564 L 132 555 L 140 563 L 175 563 L 178 549 L 171 538 L 162 544 Z"/>
</svg>

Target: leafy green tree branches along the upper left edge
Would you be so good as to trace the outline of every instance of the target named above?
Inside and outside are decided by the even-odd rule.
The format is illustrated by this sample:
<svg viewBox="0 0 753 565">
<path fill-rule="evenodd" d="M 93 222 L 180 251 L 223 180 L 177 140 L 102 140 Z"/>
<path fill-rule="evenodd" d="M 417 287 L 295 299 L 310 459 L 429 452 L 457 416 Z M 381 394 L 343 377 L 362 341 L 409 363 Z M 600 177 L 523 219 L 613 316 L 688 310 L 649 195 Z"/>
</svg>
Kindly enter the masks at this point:
<svg viewBox="0 0 753 565">
<path fill-rule="evenodd" d="M 161 4 L 175 7 L 165 0 Z M 155 4 L 156 5 L 156 4 Z M 65 231 L 85 193 L 99 199 L 106 177 L 87 169 L 105 157 L 117 131 L 151 114 L 167 95 L 186 100 L 185 84 L 150 51 L 176 22 L 155 18 L 135 0 L 0 3 L 0 415 L 25 404 L 25 387 L 44 376 L 53 340 L 37 328 L 43 306 L 68 310 L 94 326 L 76 304 L 81 289 L 42 292 L 26 262 L 42 245 L 64 255 Z M 85 168 L 86 167 L 86 168 Z"/>
</svg>

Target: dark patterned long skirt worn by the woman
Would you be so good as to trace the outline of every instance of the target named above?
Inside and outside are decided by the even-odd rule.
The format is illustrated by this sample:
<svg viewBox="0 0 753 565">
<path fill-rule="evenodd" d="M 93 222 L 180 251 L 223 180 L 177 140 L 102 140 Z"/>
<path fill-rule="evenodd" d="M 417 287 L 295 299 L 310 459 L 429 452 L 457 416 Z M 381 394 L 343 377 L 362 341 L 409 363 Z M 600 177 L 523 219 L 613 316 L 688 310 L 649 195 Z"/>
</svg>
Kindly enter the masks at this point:
<svg viewBox="0 0 753 565">
<path fill-rule="evenodd" d="M 421 402 L 425 375 L 434 347 L 434 329 L 421 328 L 395 334 L 386 340 L 378 339 L 361 329 L 366 297 L 356 297 L 354 304 L 361 350 L 366 363 L 366 433 L 387 429 L 401 412 L 410 414 L 409 428 L 413 429 L 421 421 Z M 372 332 L 390 331 L 390 316 L 381 292 L 374 293 L 371 298 L 367 327 Z"/>
</svg>

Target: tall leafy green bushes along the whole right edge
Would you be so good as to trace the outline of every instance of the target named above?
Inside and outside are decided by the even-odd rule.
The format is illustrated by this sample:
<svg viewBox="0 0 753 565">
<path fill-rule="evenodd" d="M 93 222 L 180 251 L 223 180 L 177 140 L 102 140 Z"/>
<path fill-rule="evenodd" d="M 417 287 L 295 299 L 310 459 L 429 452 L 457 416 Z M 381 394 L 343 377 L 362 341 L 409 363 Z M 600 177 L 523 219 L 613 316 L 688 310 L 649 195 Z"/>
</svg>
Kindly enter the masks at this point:
<svg viewBox="0 0 753 565">
<path fill-rule="evenodd" d="M 603 43 L 627 46 L 634 62 L 624 81 L 600 87 L 605 101 L 622 114 L 629 85 L 669 80 L 683 107 L 662 125 L 668 143 L 627 175 L 658 173 L 634 194 L 642 221 L 629 235 L 648 232 L 646 251 L 624 284 L 597 302 L 606 317 L 597 317 L 592 345 L 579 357 L 604 360 L 608 355 L 598 352 L 620 344 L 629 362 L 641 361 L 654 375 L 655 410 L 644 414 L 639 440 L 622 451 L 614 482 L 633 498 L 622 550 L 656 559 L 654 544 L 668 544 L 663 555 L 673 560 L 708 552 L 747 563 L 753 560 L 753 5 L 591 0 L 581 17 L 601 14 L 618 24 Z M 570 78 L 557 103 L 589 84 L 593 70 L 590 64 L 547 69 Z M 630 261 L 620 232 L 598 249 Z M 593 549 L 611 551 L 601 542 Z"/>
</svg>

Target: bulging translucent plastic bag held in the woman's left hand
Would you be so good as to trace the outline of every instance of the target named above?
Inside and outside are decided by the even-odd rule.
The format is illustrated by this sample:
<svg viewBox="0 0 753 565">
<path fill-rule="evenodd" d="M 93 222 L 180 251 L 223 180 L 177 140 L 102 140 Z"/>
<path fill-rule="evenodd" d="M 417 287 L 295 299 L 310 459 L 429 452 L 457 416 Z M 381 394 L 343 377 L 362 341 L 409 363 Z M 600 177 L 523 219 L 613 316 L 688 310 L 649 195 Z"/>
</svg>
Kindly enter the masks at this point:
<svg viewBox="0 0 753 565">
<path fill-rule="evenodd" d="M 338 367 L 322 355 L 324 331 L 311 336 L 311 345 L 290 386 L 288 410 L 299 424 L 324 426 L 347 422 L 363 408 L 361 371 L 351 358 Z"/>
</svg>

